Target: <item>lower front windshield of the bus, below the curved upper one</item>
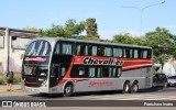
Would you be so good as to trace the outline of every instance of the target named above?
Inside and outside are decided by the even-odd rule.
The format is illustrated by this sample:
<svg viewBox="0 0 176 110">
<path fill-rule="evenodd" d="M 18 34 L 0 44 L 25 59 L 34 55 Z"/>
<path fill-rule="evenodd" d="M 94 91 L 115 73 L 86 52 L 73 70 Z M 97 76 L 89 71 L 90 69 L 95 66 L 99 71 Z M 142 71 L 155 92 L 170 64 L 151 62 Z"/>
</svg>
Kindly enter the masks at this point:
<svg viewBox="0 0 176 110">
<path fill-rule="evenodd" d="M 23 75 L 33 76 L 33 77 L 46 77 L 48 65 L 41 63 L 28 63 L 23 66 Z"/>
</svg>

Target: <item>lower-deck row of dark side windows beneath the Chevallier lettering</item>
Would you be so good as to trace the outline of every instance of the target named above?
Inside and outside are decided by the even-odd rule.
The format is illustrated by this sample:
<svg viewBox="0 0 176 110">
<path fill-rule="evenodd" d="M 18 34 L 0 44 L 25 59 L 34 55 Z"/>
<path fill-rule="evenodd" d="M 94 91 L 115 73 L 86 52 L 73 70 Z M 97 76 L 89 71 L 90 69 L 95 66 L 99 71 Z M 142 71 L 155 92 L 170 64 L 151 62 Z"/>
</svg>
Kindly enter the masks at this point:
<svg viewBox="0 0 176 110">
<path fill-rule="evenodd" d="M 80 66 L 74 65 L 70 77 L 73 78 L 114 78 L 121 76 L 121 67 Z"/>
</svg>

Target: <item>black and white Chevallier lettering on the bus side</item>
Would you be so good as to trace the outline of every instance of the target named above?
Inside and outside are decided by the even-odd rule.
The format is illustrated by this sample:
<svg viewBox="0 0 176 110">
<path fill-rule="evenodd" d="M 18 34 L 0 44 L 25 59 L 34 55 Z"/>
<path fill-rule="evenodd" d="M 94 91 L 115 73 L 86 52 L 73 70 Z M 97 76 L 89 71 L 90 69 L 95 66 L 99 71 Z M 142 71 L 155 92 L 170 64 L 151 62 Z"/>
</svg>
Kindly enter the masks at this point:
<svg viewBox="0 0 176 110">
<path fill-rule="evenodd" d="M 84 64 L 88 65 L 117 65 L 122 66 L 122 61 L 117 61 L 116 58 L 109 58 L 109 59 L 94 59 L 92 57 L 86 57 L 84 58 Z"/>
</svg>

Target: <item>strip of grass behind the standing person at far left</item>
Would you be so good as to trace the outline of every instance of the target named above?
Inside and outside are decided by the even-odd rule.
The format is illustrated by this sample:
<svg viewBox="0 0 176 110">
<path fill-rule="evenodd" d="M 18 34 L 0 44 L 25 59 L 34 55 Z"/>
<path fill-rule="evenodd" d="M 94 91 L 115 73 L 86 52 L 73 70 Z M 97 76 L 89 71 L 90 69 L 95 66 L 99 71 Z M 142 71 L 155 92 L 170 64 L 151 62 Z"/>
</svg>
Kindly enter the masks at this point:
<svg viewBox="0 0 176 110">
<path fill-rule="evenodd" d="M 13 84 L 20 84 L 20 82 L 21 82 L 21 74 L 14 73 Z M 0 73 L 0 85 L 6 85 L 6 84 L 7 84 L 6 75 Z"/>
</svg>

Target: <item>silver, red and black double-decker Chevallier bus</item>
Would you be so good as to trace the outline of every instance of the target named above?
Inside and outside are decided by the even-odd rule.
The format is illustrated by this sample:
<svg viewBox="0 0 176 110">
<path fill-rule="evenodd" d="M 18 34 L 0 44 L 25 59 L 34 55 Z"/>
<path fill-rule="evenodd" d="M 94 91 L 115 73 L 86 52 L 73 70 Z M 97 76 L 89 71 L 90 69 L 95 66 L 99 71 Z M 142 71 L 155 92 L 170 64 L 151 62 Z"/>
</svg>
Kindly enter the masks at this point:
<svg viewBox="0 0 176 110">
<path fill-rule="evenodd" d="M 148 46 L 38 37 L 24 54 L 23 88 L 67 97 L 80 91 L 136 92 L 152 87 L 152 65 Z"/>
</svg>

